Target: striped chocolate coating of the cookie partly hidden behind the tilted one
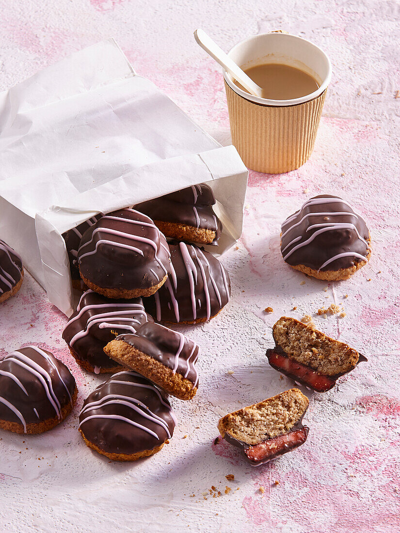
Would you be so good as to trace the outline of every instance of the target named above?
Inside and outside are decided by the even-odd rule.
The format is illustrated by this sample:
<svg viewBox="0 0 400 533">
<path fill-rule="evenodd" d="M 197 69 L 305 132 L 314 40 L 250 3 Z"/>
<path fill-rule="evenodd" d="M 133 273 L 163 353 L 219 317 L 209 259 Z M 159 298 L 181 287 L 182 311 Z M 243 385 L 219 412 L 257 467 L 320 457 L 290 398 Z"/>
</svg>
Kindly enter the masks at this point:
<svg viewBox="0 0 400 533">
<path fill-rule="evenodd" d="M 87 290 L 71 315 L 62 338 L 74 356 L 89 366 L 115 368 L 116 362 L 103 351 L 107 343 L 122 333 L 135 333 L 153 318 L 145 312 L 141 298 L 111 300 L 93 290 Z"/>
</svg>

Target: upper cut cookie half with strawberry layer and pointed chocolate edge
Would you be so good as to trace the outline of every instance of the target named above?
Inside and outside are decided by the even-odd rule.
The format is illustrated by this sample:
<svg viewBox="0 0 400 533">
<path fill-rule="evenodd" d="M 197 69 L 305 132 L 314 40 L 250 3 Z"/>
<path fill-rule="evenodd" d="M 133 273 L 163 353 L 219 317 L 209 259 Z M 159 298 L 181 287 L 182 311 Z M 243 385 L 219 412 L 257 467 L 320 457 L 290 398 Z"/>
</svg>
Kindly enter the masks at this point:
<svg viewBox="0 0 400 533">
<path fill-rule="evenodd" d="M 279 318 L 272 331 L 275 348 L 266 353 L 271 367 L 317 392 L 329 391 L 340 376 L 367 360 L 295 318 Z"/>
</svg>

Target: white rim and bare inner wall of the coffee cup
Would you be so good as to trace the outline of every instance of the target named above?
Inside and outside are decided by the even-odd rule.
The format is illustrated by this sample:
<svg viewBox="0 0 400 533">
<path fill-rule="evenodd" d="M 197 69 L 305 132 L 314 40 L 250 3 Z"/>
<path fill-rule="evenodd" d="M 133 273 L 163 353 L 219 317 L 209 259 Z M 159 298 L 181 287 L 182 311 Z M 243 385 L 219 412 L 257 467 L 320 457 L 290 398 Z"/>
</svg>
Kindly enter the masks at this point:
<svg viewBox="0 0 400 533">
<path fill-rule="evenodd" d="M 262 63 L 284 63 L 291 67 L 299 68 L 313 76 L 319 85 L 311 94 L 293 100 L 269 100 L 243 91 L 234 82 L 226 70 L 223 76 L 227 84 L 246 100 L 262 103 L 267 106 L 295 106 L 308 102 L 322 94 L 328 86 L 332 67 L 328 56 L 313 43 L 284 33 L 268 33 L 255 35 L 236 44 L 228 55 L 239 67 L 250 68 Z"/>
</svg>

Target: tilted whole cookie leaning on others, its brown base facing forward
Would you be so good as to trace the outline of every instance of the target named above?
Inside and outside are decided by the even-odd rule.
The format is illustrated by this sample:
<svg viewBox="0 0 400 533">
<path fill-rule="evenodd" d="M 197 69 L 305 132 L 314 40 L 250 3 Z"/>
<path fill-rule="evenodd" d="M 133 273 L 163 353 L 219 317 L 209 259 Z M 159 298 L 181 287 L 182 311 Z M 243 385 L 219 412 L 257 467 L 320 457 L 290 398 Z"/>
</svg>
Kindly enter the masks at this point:
<svg viewBox="0 0 400 533">
<path fill-rule="evenodd" d="M 147 322 L 135 334 L 118 335 L 104 351 L 181 400 L 190 400 L 197 392 L 198 346 L 172 329 Z"/>
</svg>

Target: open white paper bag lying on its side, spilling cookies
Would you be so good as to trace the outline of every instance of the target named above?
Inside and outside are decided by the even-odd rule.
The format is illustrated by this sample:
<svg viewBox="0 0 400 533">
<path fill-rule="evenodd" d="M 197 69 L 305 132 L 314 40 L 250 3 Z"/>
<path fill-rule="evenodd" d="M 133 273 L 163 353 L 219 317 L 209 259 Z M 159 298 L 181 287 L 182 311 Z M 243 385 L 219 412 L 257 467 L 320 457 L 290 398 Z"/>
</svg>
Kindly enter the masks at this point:
<svg viewBox="0 0 400 533">
<path fill-rule="evenodd" d="M 209 182 L 222 253 L 242 232 L 247 169 L 149 80 L 114 39 L 0 93 L 0 238 L 67 316 L 73 311 L 61 234 L 107 213 Z"/>
</svg>

